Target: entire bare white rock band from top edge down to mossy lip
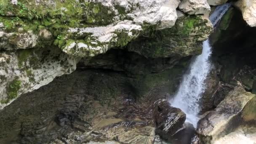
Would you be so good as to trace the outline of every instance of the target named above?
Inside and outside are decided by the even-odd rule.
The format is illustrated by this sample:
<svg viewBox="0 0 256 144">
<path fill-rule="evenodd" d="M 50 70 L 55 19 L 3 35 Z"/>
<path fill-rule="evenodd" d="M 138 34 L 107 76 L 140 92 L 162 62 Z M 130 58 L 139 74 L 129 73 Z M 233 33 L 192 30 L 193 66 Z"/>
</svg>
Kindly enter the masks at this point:
<svg viewBox="0 0 256 144">
<path fill-rule="evenodd" d="M 89 0 L 86 1 L 89 2 Z M 123 43 L 124 37 L 119 37 L 117 33 L 127 35 L 125 43 L 128 43 L 138 37 L 143 31 L 141 26 L 145 23 L 157 24 L 157 29 L 171 28 L 178 18 L 176 8 L 180 3 L 179 0 L 97 0 L 97 2 L 115 11 L 117 14 L 114 18 L 115 22 L 104 27 L 70 28 L 71 33 L 91 35 L 90 39 L 85 42 L 67 43 L 62 49 L 65 53 L 80 57 L 105 53 L 112 47 L 120 46 L 118 45 L 120 40 Z M 120 21 L 115 5 L 123 7 L 125 16 L 132 20 Z"/>
</svg>

